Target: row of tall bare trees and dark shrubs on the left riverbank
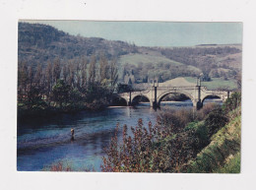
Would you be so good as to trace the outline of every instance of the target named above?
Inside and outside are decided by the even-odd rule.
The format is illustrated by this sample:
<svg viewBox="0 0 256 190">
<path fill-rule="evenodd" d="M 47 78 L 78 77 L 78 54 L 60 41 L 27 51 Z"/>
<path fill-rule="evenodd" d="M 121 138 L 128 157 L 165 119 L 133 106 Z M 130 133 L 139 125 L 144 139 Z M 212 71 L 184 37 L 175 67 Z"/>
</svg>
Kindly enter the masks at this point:
<svg viewBox="0 0 256 190">
<path fill-rule="evenodd" d="M 98 61 L 97 61 L 98 60 Z M 116 59 L 92 55 L 61 64 L 56 58 L 46 66 L 19 62 L 18 102 L 25 109 L 107 106 L 116 88 Z"/>
</svg>

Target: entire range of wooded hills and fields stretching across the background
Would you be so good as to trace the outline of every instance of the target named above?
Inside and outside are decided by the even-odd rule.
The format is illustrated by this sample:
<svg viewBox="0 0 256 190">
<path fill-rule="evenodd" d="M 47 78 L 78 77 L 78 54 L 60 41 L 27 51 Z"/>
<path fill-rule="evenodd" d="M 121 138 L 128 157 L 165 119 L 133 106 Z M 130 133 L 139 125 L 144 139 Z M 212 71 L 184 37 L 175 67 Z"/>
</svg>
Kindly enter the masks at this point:
<svg viewBox="0 0 256 190">
<path fill-rule="evenodd" d="M 18 60 L 35 67 L 45 66 L 59 58 L 61 64 L 69 61 L 98 60 L 104 54 L 108 60 L 117 58 L 119 80 L 132 75 L 136 83 L 149 78 L 167 81 L 177 77 L 197 77 L 234 80 L 241 72 L 242 46 L 240 44 L 201 44 L 191 47 L 140 47 L 120 40 L 100 37 L 82 37 L 61 32 L 40 24 L 19 23 Z"/>
</svg>

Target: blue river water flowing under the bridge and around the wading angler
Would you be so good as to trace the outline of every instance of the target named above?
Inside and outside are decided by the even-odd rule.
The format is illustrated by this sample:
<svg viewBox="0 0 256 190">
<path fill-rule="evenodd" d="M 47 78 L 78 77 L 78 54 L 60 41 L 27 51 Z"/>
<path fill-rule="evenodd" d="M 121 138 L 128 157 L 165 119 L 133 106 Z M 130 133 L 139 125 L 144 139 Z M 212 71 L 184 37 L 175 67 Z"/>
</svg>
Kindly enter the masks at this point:
<svg viewBox="0 0 256 190">
<path fill-rule="evenodd" d="M 17 170 L 38 171 L 61 161 L 74 170 L 100 171 L 103 149 L 109 145 L 117 123 L 136 126 L 139 118 L 146 125 L 149 121 L 155 123 L 158 110 L 149 105 L 108 107 L 18 123 Z M 162 102 L 161 107 L 192 108 L 192 102 Z M 71 128 L 75 130 L 75 141 L 70 139 Z"/>
</svg>

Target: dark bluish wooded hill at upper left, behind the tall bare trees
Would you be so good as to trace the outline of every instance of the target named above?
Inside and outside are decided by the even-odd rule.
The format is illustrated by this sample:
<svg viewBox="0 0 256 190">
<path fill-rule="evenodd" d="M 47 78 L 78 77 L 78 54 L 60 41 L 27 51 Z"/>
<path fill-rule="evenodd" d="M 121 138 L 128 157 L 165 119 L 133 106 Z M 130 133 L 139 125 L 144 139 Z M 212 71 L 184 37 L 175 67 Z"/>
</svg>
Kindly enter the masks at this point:
<svg viewBox="0 0 256 190">
<path fill-rule="evenodd" d="M 137 47 L 134 44 L 124 41 L 74 36 L 46 25 L 19 23 L 19 61 L 27 61 L 33 65 L 46 64 L 56 57 L 67 61 L 103 53 L 110 59 L 136 52 Z"/>
</svg>

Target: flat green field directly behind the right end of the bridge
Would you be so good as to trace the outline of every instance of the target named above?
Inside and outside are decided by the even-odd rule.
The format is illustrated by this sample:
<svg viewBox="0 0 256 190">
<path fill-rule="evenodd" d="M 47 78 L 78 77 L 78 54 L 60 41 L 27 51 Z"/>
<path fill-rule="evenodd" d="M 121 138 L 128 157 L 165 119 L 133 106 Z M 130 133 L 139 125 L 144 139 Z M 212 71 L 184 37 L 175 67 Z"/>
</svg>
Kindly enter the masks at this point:
<svg viewBox="0 0 256 190">
<path fill-rule="evenodd" d="M 196 83 L 196 79 L 192 77 L 185 77 L 185 79 L 190 83 Z M 212 81 L 202 82 L 202 86 L 206 86 L 208 90 L 218 90 L 222 88 L 228 88 L 229 90 L 237 89 L 235 80 L 228 79 L 225 81 L 222 78 L 212 78 Z"/>
</svg>

